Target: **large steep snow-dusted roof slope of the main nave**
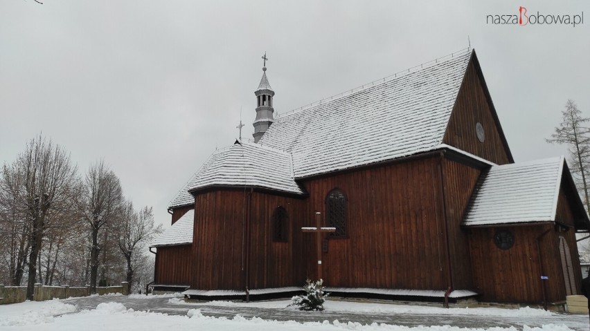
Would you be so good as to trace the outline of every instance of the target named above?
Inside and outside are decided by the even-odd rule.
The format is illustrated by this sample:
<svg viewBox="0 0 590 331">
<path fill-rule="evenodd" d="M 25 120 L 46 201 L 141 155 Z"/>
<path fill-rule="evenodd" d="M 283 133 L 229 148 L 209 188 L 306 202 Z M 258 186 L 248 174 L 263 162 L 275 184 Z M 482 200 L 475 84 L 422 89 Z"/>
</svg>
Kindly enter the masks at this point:
<svg viewBox="0 0 590 331">
<path fill-rule="evenodd" d="M 442 143 L 471 53 L 275 120 L 260 144 L 293 155 L 295 178 L 393 160 Z"/>
</svg>

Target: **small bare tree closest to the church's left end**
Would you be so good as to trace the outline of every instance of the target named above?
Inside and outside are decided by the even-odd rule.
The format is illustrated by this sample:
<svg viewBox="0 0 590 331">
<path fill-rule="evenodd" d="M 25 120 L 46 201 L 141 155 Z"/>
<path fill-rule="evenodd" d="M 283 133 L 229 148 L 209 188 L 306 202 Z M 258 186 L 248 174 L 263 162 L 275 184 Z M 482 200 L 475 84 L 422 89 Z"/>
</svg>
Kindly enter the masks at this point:
<svg viewBox="0 0 590 331">
<path fill-rule="evenodd" d="M 155 235 L 161 233 L 162 226 L 154 225 L 152 207 L 143 207 L 136 211 L 131 201 L 125 203 L 125 209 L 118 229 L 118 247 L 127 262 L 127 283 L 129 290 L 134 288 L 135 271 L 143 262 L 142 251 Z"/>
</svg>

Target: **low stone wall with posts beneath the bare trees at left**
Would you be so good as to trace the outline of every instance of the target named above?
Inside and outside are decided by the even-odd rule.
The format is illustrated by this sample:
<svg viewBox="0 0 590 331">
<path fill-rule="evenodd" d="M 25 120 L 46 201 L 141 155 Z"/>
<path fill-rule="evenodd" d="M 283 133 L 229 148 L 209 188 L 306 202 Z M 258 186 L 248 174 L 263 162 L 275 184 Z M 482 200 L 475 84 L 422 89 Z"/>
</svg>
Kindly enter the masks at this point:
<svg viewBox="0 0 590 331">
<path fill-rule="evenodd" d="M 120 286 L 96 287 L 96 294 L 115 294 L 123 295 L 129 294 L 129 286 L 127 282 L 122 282 Z M 66 299 L 71 296 L 89 296 L 90 286 L 70 287 L 70 285 L 62 286 L 44 286 L 42 284 L 35 284 L 35 292 L 33 297 L 35 301 Z M 0 305 L 5 303 L 18 303 L 26 300 L 26 286 L 4 286 L 0 285 Z"/>
</svg>

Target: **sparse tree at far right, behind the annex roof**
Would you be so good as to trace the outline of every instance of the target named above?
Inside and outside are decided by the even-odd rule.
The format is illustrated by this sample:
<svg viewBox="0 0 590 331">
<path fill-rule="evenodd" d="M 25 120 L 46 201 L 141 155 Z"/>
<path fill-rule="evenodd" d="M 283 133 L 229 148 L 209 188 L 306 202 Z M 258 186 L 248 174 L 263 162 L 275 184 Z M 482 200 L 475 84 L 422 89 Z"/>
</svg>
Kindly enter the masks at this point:
<svg viewBox="0 0 590 331">
<path fill-rule="evenodd" d="M 582 112 L 573 100 L 567 100 L 562 111 L 562 122 L 546 142 L 566 144 L 570 156 L 571 173 L 582 187 L 584 205 L 590 213 L 588 179 L 590 178 L 590 128 L 585 125 L 590 118 L 582 117 Z"/>
</svg>

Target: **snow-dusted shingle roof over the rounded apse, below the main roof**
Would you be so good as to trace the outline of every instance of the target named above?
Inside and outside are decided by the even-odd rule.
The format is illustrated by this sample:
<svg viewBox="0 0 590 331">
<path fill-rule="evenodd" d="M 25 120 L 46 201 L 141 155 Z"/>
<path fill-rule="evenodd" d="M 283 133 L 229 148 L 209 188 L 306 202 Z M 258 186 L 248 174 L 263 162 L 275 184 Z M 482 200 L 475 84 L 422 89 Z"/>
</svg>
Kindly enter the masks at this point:
<svg viewBox="0 0 590 331">
<path fill-rule="evenodd" d="M 215 151 L 187 187 L 191 191 L 219 185 L 304 193 L 293 178 L 289 153 L 251 142 Z"/>
</svg>

